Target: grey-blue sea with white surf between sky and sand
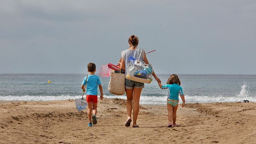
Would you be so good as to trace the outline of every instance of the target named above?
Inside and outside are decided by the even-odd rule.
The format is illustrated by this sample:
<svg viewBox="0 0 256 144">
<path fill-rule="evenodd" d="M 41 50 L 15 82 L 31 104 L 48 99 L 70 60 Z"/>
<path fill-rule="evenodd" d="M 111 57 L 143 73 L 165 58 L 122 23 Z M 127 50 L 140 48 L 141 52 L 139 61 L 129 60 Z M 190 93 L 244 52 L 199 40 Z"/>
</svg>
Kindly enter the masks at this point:
<svg viewBox="0 0 256 144">
<path fill-rule="evenodd" d="M 0 100 L 48 101 L 79 99 L 86 74 L 0 74 Z M 157 75 L 166 84 L 170 74 Z M 256 102 L 256 75 L 178 75 L 186 103 Z M 126 99 L 108 92 L 110 77 L 100 77 L 105 98 Z M 48 80 L 51 81 L 48 84 Z M 100 91 L 98 90 L 98 95 Z M 140 104 L 166 104 L 168 90 L 156 80 L 145 84 Z M 181 102 L 181 100 L 180 100 Z"/>
</svg>

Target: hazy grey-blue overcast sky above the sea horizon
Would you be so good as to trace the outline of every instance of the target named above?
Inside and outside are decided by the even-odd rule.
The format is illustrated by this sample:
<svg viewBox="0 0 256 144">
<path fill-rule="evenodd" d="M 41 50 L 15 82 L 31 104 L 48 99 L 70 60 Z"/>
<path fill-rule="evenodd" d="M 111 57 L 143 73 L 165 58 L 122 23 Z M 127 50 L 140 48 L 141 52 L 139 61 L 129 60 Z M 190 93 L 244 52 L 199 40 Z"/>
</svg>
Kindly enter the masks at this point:
<svg viewBox="0 0 256 144">
<path fill-rule="evenodd" d="M 138 36 L 156 74 L 256 74 L 254 0 L 1 1 L 0 73 L 87 73 Z"/>
</svg>

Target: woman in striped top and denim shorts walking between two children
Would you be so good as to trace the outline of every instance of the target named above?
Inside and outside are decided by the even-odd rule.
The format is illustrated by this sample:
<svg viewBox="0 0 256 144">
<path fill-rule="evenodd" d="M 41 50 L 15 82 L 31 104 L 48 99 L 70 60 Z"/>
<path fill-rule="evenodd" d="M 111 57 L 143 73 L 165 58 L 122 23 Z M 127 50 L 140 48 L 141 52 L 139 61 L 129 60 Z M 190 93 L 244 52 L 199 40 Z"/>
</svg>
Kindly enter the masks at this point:
<svg viewBox="0 0 256 144">
<path fill-rule="evenodd" d="M 129 49 L 121 52 L 122 60 L 118 64 L 120 64 L 121 69 L 125 70 L 125 75 L 127 74 L 127 67 L 128 67 L 128 58 L 133 57 L 136 58 L 139 52 L 142 52 L 140 61 L 144 61 L 146 64 L 148 64 L 148 59 L 146 57 L 145 51 L 142 49 L 138 49 L 138 43 L 139 39 L 137 36 L 130 36 L 129 40 Z M 152 73 L 152 75 L 155 77 L 156 81 L 161 83 L 161 80 L 156 76 L 156 74 Z M 129 79 L 125 78 L 125 92 L 126 92 L 126 111 L 128 119 L 125 123 L 126 127 L 129 127 L 132 122 L 132 109 L 133 109 L 133 124 L 132 127 L 139 127 L 136 123 L 137 117 L 139 114 L 139 108 L 140 108 L 140 94 L 142 91 L 142 88 L 144 87 L 144 83 L 135 82 Z M 132 101 L 133 101 L 133 107 L 132 107 Z"/>
</svg>

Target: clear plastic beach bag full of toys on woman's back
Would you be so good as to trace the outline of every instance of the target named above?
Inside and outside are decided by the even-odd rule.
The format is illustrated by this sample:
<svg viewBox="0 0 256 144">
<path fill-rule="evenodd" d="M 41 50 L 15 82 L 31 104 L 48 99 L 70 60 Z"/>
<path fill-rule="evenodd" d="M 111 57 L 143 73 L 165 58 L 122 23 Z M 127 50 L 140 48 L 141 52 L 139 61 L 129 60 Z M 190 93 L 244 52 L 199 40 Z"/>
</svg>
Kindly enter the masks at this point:
<svg viewBox="0 0 256 144">
<path fill-rule="evenodd" d="M 140 52 L 140 55 L 137 56 L 137 60 L 135 60 L 133 57 L 130 57 L 128 59 L 128 69 L 126 78 L 135 82 L 140 83 L 151 83 L 152 78 L 152 72 L 153 68 L 151 64 L 146 64 L 144 61 L 140 61 L 142 51 Z"/>
</svg>

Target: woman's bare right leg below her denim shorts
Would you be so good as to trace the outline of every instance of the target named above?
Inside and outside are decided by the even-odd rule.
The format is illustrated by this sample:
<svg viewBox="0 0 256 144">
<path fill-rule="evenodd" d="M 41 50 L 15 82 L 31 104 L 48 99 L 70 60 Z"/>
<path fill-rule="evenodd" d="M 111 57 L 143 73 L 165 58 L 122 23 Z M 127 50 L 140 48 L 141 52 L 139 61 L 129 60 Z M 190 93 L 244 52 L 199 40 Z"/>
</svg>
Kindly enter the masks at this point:
<svg viewBox="0 0 256 144">
<path fill-rule="evenodd" d="M 137 126 L 137 117 L 140 110 L 140 94 L 142 88 L 133 88 L 133 124 L 132 126 Z"/>
</svg>

